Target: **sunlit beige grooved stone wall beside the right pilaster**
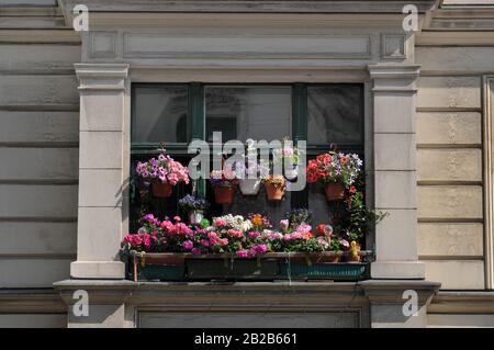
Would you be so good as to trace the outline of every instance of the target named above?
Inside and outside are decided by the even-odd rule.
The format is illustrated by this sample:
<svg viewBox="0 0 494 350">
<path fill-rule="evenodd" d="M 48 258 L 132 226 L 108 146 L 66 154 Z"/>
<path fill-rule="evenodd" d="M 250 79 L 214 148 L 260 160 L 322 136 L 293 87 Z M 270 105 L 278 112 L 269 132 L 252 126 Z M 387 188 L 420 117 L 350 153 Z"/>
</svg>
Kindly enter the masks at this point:
<svg viewBox="0 0 494 350">
<path fill-rule="evenodd" d="M 482 74 L 492 47 L 416 47 L 418 255 L 445 290 L 484 283 Z"/>
</svg>

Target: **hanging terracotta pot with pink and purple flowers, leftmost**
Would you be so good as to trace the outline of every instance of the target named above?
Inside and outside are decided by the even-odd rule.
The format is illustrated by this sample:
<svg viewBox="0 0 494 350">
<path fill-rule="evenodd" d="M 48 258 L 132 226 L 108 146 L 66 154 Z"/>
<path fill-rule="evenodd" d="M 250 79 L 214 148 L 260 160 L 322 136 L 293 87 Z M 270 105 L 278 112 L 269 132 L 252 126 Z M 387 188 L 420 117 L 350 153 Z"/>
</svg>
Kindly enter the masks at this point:
<svg viewBox="0 0 494 350">
<path fill-rule="evenodd" d="M 151 193 L 157 197 L 169 197 L 179 182 L 189 183 L 189 169 L 164 153 L 157 158 L 137 162 L 136 172 L 150 183 Z"/>
</svg>

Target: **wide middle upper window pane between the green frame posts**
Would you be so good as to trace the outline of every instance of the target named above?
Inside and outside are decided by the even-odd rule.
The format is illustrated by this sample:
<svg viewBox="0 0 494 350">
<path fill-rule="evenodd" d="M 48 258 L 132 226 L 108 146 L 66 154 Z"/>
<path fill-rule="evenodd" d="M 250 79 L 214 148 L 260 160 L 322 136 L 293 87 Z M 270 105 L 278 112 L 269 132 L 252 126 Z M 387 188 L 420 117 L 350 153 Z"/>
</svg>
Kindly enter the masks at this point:
<svg viewBox="0 0 494 350">
<path fill-rule="evenodd" d="M 291 137 L 290 87 L 206 87 L 206 139 L 223 133 L 223 142 Z"/>
</svg>

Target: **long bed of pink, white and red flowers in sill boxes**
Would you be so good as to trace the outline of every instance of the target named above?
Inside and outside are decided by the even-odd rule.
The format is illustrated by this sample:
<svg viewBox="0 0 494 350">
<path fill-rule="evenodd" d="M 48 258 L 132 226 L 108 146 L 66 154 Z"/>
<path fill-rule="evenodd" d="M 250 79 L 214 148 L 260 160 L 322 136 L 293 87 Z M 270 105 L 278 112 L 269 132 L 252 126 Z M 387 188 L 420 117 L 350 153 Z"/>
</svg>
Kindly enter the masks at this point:
<svg viewBox="0 0 494 350">
<path fill-rule="evenodd" d="M 291 219 L 292 225 L 282 219 L 276 229 L 261 214 L 247 218 L 227 214 L 211 223 L 203 218 L 200 225 L 186 225 L 179 216 L 160 221 L 146 214 L 137 233 L 123 239 L 121 257 L 131 263 L 127 271 L 134 281 L 358 280 L 366 275 L 366 263 L 334 263 L 343 255 L 344 240 L 329 236 L 328 225 L 317 228 L 323 233 L 317 236 L 303 211 Z"/>
</svg>

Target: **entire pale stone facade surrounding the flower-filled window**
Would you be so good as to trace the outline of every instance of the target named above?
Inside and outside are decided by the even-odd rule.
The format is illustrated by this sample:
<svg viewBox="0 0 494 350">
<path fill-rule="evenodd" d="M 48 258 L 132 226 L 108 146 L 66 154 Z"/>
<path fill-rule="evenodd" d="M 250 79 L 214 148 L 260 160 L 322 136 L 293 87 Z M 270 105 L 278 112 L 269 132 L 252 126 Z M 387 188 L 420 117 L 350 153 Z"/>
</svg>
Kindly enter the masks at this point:
<svg viewBox="0 0 494 350">
<path fill-rule="evenodd" d="M 0 326 L 252 324 L 266 307 L 293 327 L 494 326 L 494 8 L 86 0 L 90 32 L 76 33 L 78 1 L 43 1 L 0 4 Z M 372 279 L 123 280 L 131 84 L 190 81 L 364 83 L 370 204 L 390 213 L 369 237 Z M 89 318 L 71 313 L 81 289 Z"/>
</svg>

